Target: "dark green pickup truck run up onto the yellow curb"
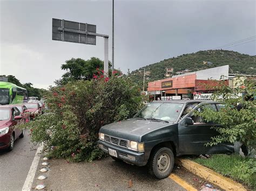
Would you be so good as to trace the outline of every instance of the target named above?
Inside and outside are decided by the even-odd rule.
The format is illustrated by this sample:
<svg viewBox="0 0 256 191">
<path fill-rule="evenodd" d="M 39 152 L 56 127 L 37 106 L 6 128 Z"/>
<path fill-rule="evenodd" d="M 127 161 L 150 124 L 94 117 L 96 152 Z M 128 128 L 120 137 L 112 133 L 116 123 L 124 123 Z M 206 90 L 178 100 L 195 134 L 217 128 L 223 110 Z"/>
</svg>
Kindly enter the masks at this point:
<svg viewBox="0 0 256 191">
<path fill-rule="evenodd" d="M 232 153 L 233 145 L 205 146 L 218 135 L 212 126 L 194 115 L 195 110 L 210 107 L 218 111 L 217 102 L 205 100 L 154 101 L 136 116 L 99 130 L 99 147 L 114 160 L 137 166 L 148 165 L 150 174 L 159 179 L 170 175 L 174 157 L 184 154 Z"/>
</svg>

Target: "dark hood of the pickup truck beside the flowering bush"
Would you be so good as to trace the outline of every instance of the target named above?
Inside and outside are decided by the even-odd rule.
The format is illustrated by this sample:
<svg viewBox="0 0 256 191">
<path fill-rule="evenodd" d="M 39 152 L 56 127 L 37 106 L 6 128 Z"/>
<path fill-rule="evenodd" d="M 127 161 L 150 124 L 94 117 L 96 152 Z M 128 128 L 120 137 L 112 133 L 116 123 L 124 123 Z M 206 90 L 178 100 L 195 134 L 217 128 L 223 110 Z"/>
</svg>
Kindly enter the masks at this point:
<svg viewBox="0 0 256 191">
<path fill-rule="evenodd" d="M 165 122 L 149 121 L 144 119 L 126 119 L 117 123 L 111 123 L 100 128 L 99 132 L 113 137 L 139 141 L 147 132 L 166 126 Z"/>
</svg>

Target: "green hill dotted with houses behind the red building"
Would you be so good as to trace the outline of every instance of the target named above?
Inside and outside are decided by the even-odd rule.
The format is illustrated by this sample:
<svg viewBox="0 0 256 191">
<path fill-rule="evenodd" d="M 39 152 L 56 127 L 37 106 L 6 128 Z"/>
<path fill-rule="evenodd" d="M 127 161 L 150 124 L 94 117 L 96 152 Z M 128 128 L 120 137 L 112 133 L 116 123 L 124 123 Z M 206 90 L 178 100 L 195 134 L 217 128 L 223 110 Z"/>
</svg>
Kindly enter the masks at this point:
<svg viewBox="0 0 256 191">
<path fill-rule="evenodd" d="M 143 72 L 146 71 L 145 86 L 147 82 L 164 79 L 172 75 L 186 72 L 194 72 L 201 69 L 230 65 L 232 74 L 256 75 L 256 55 L 241 54 L 234 51 L 208 50 L 191 54 L 183 54 L 170 59 L 152 63 L 130 73 L 131 79 L 143 86 Z M 166 76 L 166 68 L 173 68 Z"/>
</svg>

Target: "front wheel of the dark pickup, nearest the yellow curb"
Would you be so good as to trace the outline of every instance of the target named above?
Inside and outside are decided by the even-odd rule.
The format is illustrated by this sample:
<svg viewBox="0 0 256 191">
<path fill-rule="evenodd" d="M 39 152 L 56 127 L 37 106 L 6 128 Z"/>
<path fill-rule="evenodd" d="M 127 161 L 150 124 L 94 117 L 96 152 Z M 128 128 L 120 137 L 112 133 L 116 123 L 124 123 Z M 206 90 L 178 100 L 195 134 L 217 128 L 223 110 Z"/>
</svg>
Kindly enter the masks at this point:
<svg viewBox="0 0 256 191">
<path fill-rule="evenodd" d="M 174 155 L 170 148 L 160 147 L 153 151 L 148 168 L 151 175 L 158 179 L 168 177 L 173 169 Z"/>
</svg>

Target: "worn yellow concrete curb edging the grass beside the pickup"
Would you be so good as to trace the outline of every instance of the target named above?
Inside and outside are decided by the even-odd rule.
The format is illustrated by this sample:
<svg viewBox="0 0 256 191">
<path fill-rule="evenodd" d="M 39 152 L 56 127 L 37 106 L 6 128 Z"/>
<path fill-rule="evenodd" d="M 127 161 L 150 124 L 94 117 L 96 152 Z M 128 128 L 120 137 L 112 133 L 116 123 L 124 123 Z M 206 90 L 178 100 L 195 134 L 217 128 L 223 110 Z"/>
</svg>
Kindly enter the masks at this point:
<svg viewBox="0 0 256 191">
<path fill-rule="evenodd" d="M 210 168 L 204 167 L 192 160 L 176 158 L 175 163 L 186 168 L 188 171 L 200 176 L 207 181 L 214 183 L 224 190 L 247 190 L 240 183 L 235 182 L 217 172 L 212 171 Z"/>
</svg>

